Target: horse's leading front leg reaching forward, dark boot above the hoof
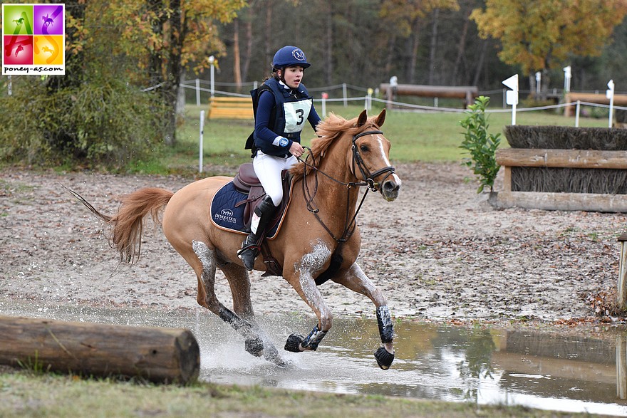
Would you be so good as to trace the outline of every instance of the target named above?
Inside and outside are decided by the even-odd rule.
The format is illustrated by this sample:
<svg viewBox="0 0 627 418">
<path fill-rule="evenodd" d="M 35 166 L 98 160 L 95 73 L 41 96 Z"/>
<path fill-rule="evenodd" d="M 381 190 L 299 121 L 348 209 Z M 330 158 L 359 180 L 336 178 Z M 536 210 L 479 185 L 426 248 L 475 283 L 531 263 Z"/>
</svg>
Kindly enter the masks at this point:
<svg viewBox="0 0 627 418">
<path fill-rule="evenodd" d="M 338 276 L 332 280 L 346 286 L 346 288 L 351 289 L 351 291 L 367 296 L 375 304 L 379 335 L 381 337 L 381 343 L 383 343 L 383 347 L 379 347 L 375 352 L 375 359 L 379 367 L 383 370 L 388 370 L 394 361 L 394 325 L 390 315 L 390 308 L 388 308 L 388 301 L 385 299 L 385 296 L 383 296 L 383 293 L 381 293 L 368 276 L 366 276 L 366 273 L 363 273 L 357 263 L 354 263 L 351 268 L 344 273 L 338 274 Z"/>
</svg>

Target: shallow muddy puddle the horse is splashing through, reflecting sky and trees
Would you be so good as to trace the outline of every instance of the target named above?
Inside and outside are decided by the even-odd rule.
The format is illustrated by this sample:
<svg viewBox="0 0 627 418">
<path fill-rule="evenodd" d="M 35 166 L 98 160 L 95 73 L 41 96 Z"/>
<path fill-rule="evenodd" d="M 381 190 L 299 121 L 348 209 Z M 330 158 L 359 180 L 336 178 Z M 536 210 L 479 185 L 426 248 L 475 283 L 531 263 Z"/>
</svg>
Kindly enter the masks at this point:
<svg viewBox="0 0 627 418">
<path fill-rule="evenodd" d="M 283 350 L 287 335 L 306 335 L 316 320 L 260 315 L 262 328 L 289 361 L 289 367 L 278 368 L 245 352 L 242 337 L 202 310 L 0 302 L 0 315 L 188 328 L 200 345 L 200 378 L 209 382 L 627 416 L 627 330 L 596 340 L 397 322 L 396 358 L 383 371 L 373 357 L 380 343 L 371 319 L 338 316 L 317 352 L 297 354 Z"/>
</svg>

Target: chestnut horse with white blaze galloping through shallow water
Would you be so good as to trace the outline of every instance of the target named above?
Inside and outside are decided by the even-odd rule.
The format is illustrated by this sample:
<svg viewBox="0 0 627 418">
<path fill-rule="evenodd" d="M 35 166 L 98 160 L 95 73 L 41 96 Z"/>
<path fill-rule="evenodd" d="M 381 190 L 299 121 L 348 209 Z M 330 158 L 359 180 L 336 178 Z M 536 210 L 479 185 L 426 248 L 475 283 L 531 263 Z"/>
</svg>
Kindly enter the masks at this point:
<svg viewBox="0 0 627 418">
<path fill-rule="evenodd" d="M 393 323 L 387 301 L 358 263 L 361 234 L 356 216 L 368 190 L 383 198 L 398 197 L 400 178 L 388 159 L 390 142 L 380 131 L 385 110 L 368 118 L 366 110 L 353 120 L 330 115 L 317 127 L 306 160 L 290 170 L 294 177 L 291 200 L 278 234 L 266 240 L 272 256 L 282 266 L 282 276 L 314 310 L 318 323 L 309 335 L 292 334 L 285 350 L 316 350 L 331 328 L 333 315 L 317 285 L 328 279 L 370 298 L 382 346 L 375 352 L 378 365 L 387 370 L 394 360 Z M 115 216 L 100 214 L 81 197 L 83 204 L 113 227 L 111 243 L 123 260 L 133 263 L 139 256 L 142 220 L 152 214 L 170 244 L 192 266 L 198 281 L 197 302 L 219 315 L 245 339 L 253 355 L 285 365 L 278 350 L 266 338 L 254 318 L 247 269 L 237 257 L 244 232 L 219 229 L 212 224 L 210 204 L 217 191 L 231 177 L 207 177 L 176 193 L 145 188 L 123 197 Z M 359 201 L 360 187 L 368 187 Z M 263 256 L 255 269 L 265 271 Z M 229 281 L 233 310 L 225 307 L 214 292 L 216 268 Z"/>
</svg>

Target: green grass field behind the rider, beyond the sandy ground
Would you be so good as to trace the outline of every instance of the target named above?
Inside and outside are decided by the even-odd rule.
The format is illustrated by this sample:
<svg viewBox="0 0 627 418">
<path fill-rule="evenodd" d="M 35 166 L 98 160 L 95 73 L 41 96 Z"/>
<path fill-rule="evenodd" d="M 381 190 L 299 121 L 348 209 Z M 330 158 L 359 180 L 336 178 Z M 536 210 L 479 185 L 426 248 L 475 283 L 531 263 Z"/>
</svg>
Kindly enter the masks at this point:
<svg viewBox="0 0 627 418">
<path fill-rule="evenodd" d="M 376 104 L 375 104 L 376 105 Z M 382 108 L 373 106 L 371 115 L 376 115 Z M 175 148 L 165 150 L 159 162 L 138 165 L 140 172 L 155 172 L 166 169 L 169 172 L 193 171 L 198 169 L 199 153 L 199 115 L 206 106 L 188 105 L 185 122 L 177 131 L 178 144 Z M 351 119 L 356 117 L 363 106 L 328 105 L 327 113 Z M 318 108 L 318 111 L 321 111 Z M 466 155 L 460 149 L 463 130 L 460 120 L 464 113 L 414 113 L 407 111 L 388 111 L 383 132 L 392 142 L 391 160 L 395 162 L 459 162 Z M 512 123 L 511 111 L 489 113 L 489 131 L 497 134 L 503 132 Z M 566 125 L 574 126 L 573 117 L 564 117 L 551 111 L 517 112 L 517 125 Z M 581 127 L 606 127 L 607 120 L 581 117 Z M 204 125 L 204 157 L 207 165 L 237 167 L 249 161 L 250 153 L 244 150 L 244 143 L 254 129 L 251 121 L 242 120 L 206 120 Z M 314 131 L 309 125 L 303 135 L 303 142 L 309 145 Z M 502 137 L 501 147 L 507 147 Z M 228 174 L 228 173 L 214 173 Z"/>
</svg>

